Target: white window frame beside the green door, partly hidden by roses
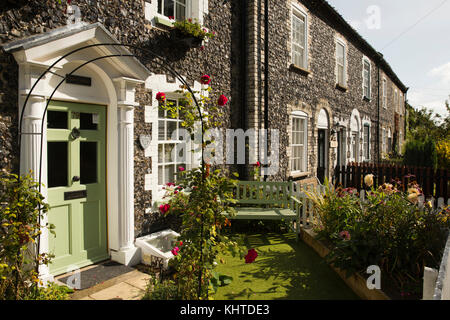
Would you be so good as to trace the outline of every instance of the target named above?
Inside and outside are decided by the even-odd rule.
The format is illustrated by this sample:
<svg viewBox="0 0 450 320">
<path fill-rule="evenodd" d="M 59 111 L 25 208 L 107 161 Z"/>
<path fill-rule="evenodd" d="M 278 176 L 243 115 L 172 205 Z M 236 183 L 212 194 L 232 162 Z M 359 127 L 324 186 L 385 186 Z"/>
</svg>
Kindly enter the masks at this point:
<svg viewBox="0 0 450 320">
<path fill-rule="evenodd" d="M 167 95 L 167 101 L 176 101 L 176 103 L 178 104 L 180 99 L 182 99 L 182 97 L 178 96 L 178 95 Z M 159 124 L 161 121 L 164 121 L 164 133 L 167 134 L 167 124 L 168 123 L 177 123 L 177 127 L 176 130 L 178 132 L 178 130 L 181 127 L 181 123 L 183 122 L 183 120 L 178 119 L 173 119 L 167 116 L 167 110 L 164 110 L 165 113 L 165 117 L 161 118 L 159 115 L 159 111 L 158 110 L 158 121 L 157 121 L 157 141 L 158 141 L 158 148 L 157 148 L 157 152 L 158 152 L 158 157 L 157 157 L 157 168 L 158 168 L 158 173 L 157 173 L 157 179 L 158 179 L 158 186 L 165 186 L 168 182 L 175 182 L 176 178 L 174 178 L 174 180 L 170 180 L 170 181 L 166 181 L 166 177 L 165 177 L 165 167 L 169 166 L 169 165 L 173 165 L 174 166 L 174 173 L 176 174 L 178 172 L 178 167 L 179 166 L 183 166 L 185 169 L 189 169 L 188 168 L 188 164 L 186 164 L 185 162 L 177 162 L 176 159 L 174 159 L 174 161 L 171 162 L 165 162 L 165 145 L 169 145 L 169 144 L 174 144 L 175 148 L 177 144 L 181 144 L 183 142 L 183 140 L 179 140 L 179 139 L 175 139 L 175 140 L 168 140 L 167 136 L 165 140 L 160 140 L 159 138 Z M 178 133 L 178 137 L 179 137 L 179 133 Z M 162 150 L 162 156 L 163 156 L 163 162 L 160 162 L 160 145 L 163 145 L 163 150 Z M 187 152 L 187 150 L 189 150 L 189 146 L 187 146 L 184 150 L 184 152 Z M 185 155 L 186 157 L 188 155 Z M 186 158 L 186 162 L 188 162 L 189 159 Z M 161 167 L 163 168 L 162 172 L 161 172 Z M 163 183 L 160 183 L 160 176 L 162 177 Z"/>
</svg>

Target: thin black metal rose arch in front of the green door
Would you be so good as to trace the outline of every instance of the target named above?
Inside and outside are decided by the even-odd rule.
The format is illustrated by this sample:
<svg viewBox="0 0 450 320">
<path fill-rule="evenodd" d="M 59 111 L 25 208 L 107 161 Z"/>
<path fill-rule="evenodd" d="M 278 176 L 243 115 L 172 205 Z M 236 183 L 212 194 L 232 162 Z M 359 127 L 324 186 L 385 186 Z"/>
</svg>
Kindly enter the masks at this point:
<svg viewBox="0 0 450 320">
<path fill-rule="evenodd" d="M 66 81 L 66 79 L 68 77 L 70 77 L 71 75 L 73 75 L 74 72 L 76 72 L 77 70 L 83 68 L 84 66 L 93 63 L 95 61 L 98 60 L 102 60 L 102 59 L 109 59 L 109 58 L 114 58 L 114 57 L 132 57 L 132 58 L 136 58 L 138 59 L 138 57 L 135 54 L 110 54 L 110 55 L 104 55 L 104 56 L 99 56 L 96 58 L 93 58 L 89 61 L 86 61 L 84 63 L 82 63 L 81 65 L 77 66 L 76 68 L 74 68 L 71 72 L 67 73 L 65 76 L 59 75 L 61 77 L 61 80 L 59 81 L 59 83 L 56 85 L 56 87 L 54 88 L 53 92 L 51 93 L 51 95 L 49 96 L 49 98 L 47 99 L 46 102 L 46 106 L 44 108 L 43 114 L 42 114 L 42 121 L 41 121 L 41 126 L 40 126 L 40 132 L 38 133 L 27 133 L 27 132 L 22 132 L 23 130 L 23 118 L 24 118 L 24 111 L 27 108 L 27 103 L 28 100 L 31 96 L 31 94 L 33 93 L 33 90 L 36 88 L 36 86 L 38 85 L 38 83 L 44 78 L 44 76 L 47 73 L 53 73 L 51 70 L 52 68 L 54 68 L 60 61 L 62 61 L 63 59 L 77 53 L 80 52 L 82 50 L 86 50 L 88 48 L 92 48 L 92 47 L 124 47 L 124 48 L 131 48 L 134 49 L 136 51 L 141 52 L 144 55 L 147 56 L 151 56 L 152 58 L 156 58 L 156 60 L 151 61 L 151 63 L 155 63 L 157 64 L 159 67 L 163 68 L 164 70 L 168 71 L 172 76 L 174 76 L 176 79 L 178 79 L 183 85 L 184 87 L 191 93 L 192 98 L 195 102 L 195 105 L 197 107 L 197 111 L 199 113 L 199 117 L 200 117 L 200 122 L 201 122 L 201 132 L 202 132 L 202 136 L 201 136 L 201 145 L 202 145 L 202 154 L 201 154 L 201 170 L 202 172 L 205 171 L 205 160 L 204 160 L 204 126 L 203 126 L 203 116 L 202 116 L 202 110 L 200 107 L 200 104 L 194 94 L 194 91 L 192 90 L 192 88 L 189 86 L 189 84 L 187 83 L 187 81 L 169 64 L 169 62 L 167 61 L 167 59 L 163 58 L 162 56 L 158 55 L 157 53 L 149 50 L 149 49 L 145 49 L 136 45 L 130 45 L 130 44 L 123 44 L 123 43 L 96 43 L 96 44 L 90 44 L 90 45 L 85 45 L 83 47 L 74 49 L 68 53 L 66 53 L 65 55 L 61 56 L 59 59 L 57 59 L 51 66 L 49 66 L 43 73 L 41 73 L 41 75 L 37 78 L 36 82 L 33 84 L 33 86 L 31 87 L 31 89 L 29 90 L 25 101 L 22 105 L 22 108 L 20 110 L 20 119 L 19 119 L 19 141 L 18 141 L 18 152 L 19 152 L 19 159 L 20 159 L 20 152 L 21 152 L 21 144 L 22 144 L 22 137 L 23 135 L 27 135 L 27 134 L 33 134 L 33 135 L 40 135 L 41 139 L 40 139 L 40 154 L 39 154 L 39 177 L 38 177 L 38 182 L 39 182 L 39 192 L 41 192 L 41 185 L 42 185 L 42 158 L 43 158 L 43 144 L 44 144 L 44 121 L 46 119 L 45 115 L 47 113 L 47 109 L 49 107 L 50 102 L 52 101 L 52 98 L 54 96 L 54 94 L 57 92 L 58 88 Z M 128 50 L 127 50 L 128 51 Z M 129 51 L 128 51 L 129 52 Z M 139 60 L 139 59 L 138 59 Z M 19 161 L 19 175 L 18 175 L 18 179 L 20 180 L 21 176 L 20 176 L 20 172 L 21 172 L 21 161 Z M 204 175 L 203 179 L 204 179 Z M 38 208 L 39 211 L 41 211 L 41 208 Z M 41 219 L 40 219 L 40 215 L 39 215 L 39 224 L 41 224 Z M 203 232 L 203 217 L 202 217 L 202 222 L 201 222 L 201 228 L 202 228 L 202 232 Z M 203 235 L 201 235 L 202 237 Z M 201 243 L 203 243 L 203 241 L 201 241 Z M 203 251 L 203 250 L 202 250 Z M 36 253 L 39 254 L 40 252 L 40 237 L 38 237 L 38 241 L 37 241 L 37 247 L 36 247 Z M 36 265 L 36 270 L 38 271 L 39 268 L 39 263 Z M 202 273 L 199 274 L 199 297 L 201 294 L 201 279 L 202 279 Z"/>
</svg>

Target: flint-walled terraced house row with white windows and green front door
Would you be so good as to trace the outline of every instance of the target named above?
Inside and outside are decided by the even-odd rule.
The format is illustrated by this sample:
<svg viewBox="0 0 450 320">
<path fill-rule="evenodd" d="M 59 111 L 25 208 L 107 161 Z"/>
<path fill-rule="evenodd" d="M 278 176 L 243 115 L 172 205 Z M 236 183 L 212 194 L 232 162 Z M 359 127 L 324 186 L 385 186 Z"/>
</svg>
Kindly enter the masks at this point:
<svg viewBox="0 0 450 320">
<path fill-rule="evenodd" d="M 210 75 L 213 95 L 230 98 L 224 129 L 279 131 L 279 170 L 267 179 L 323 180 L 336 165 L 401 150 L 407 88 L 326 1 L 32 0 L 0 10 L 0 166 L 41 177 L 43 223 L 57 234 L 42 234 L 40 250 L 56 255 L 42 278 L 139 261 L 135 238 L 163 224 L 163 186 L 195 166 L 171 157 L 180 121 L 156 100 L 165 92 L 178 103 L 181 83 L 145 50 L 195 90 Z M 184 19 L 216 37 L 189 44 L 172 27 Z M 245 179 L 251 164 L 230 167 Z"/>
</svg>

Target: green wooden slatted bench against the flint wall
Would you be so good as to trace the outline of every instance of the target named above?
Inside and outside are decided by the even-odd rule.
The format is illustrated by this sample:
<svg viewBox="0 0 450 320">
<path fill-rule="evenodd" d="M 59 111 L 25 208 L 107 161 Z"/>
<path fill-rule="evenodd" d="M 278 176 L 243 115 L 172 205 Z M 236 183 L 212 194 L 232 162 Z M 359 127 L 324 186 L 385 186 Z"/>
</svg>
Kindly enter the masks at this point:
<svg viewBox="0 0 450 320">
<path fill-rule="evenodd" d="M 235 188 L 236 215 L 229 219 L 287 220 L 300 231 L 301 202 L 294 197 L 293 182 L 239 181 Z"/>
</svg>

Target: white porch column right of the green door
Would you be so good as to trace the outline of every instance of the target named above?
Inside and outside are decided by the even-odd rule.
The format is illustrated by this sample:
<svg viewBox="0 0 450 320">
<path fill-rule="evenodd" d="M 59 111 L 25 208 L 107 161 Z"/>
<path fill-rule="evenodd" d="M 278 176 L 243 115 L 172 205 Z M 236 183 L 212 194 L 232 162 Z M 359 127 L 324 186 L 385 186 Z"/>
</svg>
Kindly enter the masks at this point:
<svg viewBox="0 0 450 320">
<path fill-rule="evenodd" d="M 119 250 L 111 251 L 114 261 L 125 265 L 139 262 L 134 246 L 134 102 L 135 86 L 141 81 L 114 79 L 118 96 L 119 130 Z"/>
</svg>

